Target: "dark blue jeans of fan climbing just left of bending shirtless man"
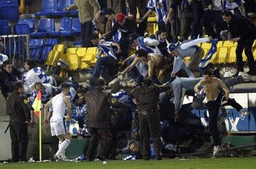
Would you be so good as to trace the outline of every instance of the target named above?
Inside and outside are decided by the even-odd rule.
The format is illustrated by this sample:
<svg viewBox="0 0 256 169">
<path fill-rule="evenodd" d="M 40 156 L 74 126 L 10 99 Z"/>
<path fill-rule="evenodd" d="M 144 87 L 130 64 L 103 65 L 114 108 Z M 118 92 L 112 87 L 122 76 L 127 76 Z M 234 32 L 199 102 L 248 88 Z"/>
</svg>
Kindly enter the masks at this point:
<svg viewBox="0 0 256 169">
<path fill-rule="evenodd" d="M 118 60 L 111 56 L 98 58 L 95 64 L 95 68 L 93 69 L 92 76 L 95 78 L 99 78 L 100 75 L 103 75 L 103 78 L 107 75 L 113 76 L 114 71 L 116 71 L 117 68 L 117 63 Z"/>
</svg>

